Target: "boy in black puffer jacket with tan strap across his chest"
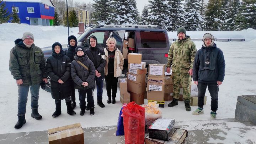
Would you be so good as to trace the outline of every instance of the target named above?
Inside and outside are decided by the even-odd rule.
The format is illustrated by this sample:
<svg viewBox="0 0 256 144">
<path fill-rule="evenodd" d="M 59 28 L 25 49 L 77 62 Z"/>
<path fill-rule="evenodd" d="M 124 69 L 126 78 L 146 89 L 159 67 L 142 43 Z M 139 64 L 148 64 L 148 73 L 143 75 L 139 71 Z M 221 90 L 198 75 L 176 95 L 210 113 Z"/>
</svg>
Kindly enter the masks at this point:
<svg viewBox="0 0 256 144">
<path fill-rule="evenodd" d="M 75 84 L 75 89 L 78 89 L 80 101 L 80 115 L 85 113 L 85 96 L 87 94 L 87 102 L 90 107 L 90 115 L 94 115 L 94 98 L 93 89 L 95 87 L 95 67 L 90 59 L 85 54 L 82 46 L 76 47 L 76 55 L 71 63 L 71 77 Z"/>
</svg>

